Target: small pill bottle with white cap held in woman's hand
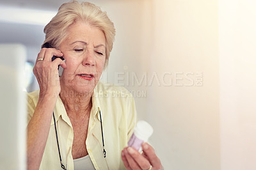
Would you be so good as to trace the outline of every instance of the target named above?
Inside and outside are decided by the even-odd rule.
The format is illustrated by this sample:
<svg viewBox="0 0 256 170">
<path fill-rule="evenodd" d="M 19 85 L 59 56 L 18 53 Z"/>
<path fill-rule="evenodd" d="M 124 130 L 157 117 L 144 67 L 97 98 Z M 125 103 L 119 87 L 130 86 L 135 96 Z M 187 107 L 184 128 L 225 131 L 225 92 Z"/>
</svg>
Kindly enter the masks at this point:
<svg viewBox="0 0 256 170">
<path fill-rule="evenodd" d="M 147 121 L 138 121 L 131 139 L 128 142 L 128 146 L 141 151 L 141 144 L 148 141 L 148 138 L 153 134 L 153 131 L 153 128 L 147 123 Z"/>
</svg>

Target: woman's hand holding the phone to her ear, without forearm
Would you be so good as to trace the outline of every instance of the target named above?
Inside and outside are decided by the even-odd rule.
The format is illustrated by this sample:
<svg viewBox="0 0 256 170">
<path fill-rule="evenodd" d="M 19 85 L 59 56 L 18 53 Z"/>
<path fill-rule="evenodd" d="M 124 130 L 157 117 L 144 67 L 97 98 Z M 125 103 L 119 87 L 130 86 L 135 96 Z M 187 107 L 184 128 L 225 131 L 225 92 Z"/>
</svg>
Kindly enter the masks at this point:
<svg viewBox="0 0 256 170">
<path fill-rule="evenodd" d="M 58 58 L 52 61 L 52 56 Z M 61 65 L 63 68 L 67 67 L 65 61 L 60 59 L 61 56 L 63 56 L 63 54 L 60 50 L 50 48 L 43 48 L 38 53 L 33 73 L 40 87 L 40 97 L 45 95 L 54 95 L 54 97 L 57 97 L 59 95 L 61 88 L 58 65 Z"/>
</svg>

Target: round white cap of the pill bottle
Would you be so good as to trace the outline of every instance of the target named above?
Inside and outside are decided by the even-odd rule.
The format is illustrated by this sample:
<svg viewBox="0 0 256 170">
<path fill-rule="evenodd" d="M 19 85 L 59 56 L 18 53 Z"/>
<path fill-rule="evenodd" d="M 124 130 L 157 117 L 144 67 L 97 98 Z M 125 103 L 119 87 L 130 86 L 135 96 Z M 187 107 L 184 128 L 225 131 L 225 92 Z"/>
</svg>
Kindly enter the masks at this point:
<svg viewBox="0 0 256 170">
<path fill-rule="evenodd" d="M 134 135 L 144 142 L 148 141 L 150 135 L 153 134 L 153 128 L 147 123 L 147 121 L 138 121 L 136 127 L 134 128 Z"/>
</svg>

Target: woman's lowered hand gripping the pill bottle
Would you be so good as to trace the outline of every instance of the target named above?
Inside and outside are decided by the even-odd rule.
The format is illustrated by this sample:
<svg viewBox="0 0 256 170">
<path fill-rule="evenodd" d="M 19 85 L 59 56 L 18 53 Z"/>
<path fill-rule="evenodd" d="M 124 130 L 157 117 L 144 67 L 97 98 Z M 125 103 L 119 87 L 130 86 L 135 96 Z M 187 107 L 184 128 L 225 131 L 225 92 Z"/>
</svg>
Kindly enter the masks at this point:
<svg viewBox="0 0 256 170">
<path fill-rule="evenodd" d="M 122 160 L 124 166 L 130 169 L 163 169 L 161 161 L 157 157 L 154 148 L 148 143 L 142 145 L 143 153 L 139 153 L 132 147 L 126 147 L 122 150 Z"/>
</svg>

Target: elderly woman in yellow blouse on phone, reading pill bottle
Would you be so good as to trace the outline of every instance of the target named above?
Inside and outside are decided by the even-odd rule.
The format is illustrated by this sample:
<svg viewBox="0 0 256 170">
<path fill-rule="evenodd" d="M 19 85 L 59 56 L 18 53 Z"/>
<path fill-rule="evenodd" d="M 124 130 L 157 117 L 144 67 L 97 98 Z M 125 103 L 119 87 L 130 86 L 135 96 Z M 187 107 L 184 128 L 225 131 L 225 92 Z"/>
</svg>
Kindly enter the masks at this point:
<svg viewBox="0 0 256 170">
<path fill-rule="evenodd" d="M 161 169 L 149 144 L 142 154 L 126 147 L 136 124 L 130 93 L 99 82 L 115 37 L 106 12 L 65 3 L 44 32 L 48 48 L 33 70 L 40 90 L 28 94 L 28 169 Z"/>
</svg>

